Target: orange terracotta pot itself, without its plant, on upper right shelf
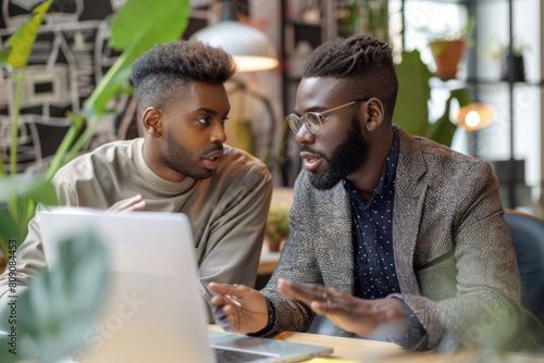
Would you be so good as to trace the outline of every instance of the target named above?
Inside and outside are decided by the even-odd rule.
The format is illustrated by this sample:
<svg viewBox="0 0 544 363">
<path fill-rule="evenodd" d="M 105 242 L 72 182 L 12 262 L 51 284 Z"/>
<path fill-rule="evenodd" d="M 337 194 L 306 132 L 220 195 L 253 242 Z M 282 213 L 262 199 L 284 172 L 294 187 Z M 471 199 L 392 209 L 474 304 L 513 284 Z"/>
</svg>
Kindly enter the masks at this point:
<svg viewBox="0 0 544 363">
<path fill-rule="evenodd" d="M 442 80 L 456 78 L 457 66 L 465 55 L 467 41 L 465 39 L 450 41 L 433 41 L 429 43 L 436 64 L 436 75 Z"/>
</svg>

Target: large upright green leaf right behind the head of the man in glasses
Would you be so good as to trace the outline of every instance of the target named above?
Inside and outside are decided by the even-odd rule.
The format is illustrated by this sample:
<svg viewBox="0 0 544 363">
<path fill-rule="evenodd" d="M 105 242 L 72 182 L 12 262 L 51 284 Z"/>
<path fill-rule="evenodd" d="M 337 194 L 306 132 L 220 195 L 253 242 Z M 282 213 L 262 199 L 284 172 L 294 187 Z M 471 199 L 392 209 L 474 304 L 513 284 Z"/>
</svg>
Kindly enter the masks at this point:
<svg viewBox="0 0 544 363">
<path fill-rule="evenodd" d="M 429 79 L 433 73 L 421 61 L 418 50 L 403 52 L 403 61 L 395 65 L 398 95 L 393 123 L 406 132 L 424 136 L 429 128 L 428 101 L 431 98 Z"/>
</svg>

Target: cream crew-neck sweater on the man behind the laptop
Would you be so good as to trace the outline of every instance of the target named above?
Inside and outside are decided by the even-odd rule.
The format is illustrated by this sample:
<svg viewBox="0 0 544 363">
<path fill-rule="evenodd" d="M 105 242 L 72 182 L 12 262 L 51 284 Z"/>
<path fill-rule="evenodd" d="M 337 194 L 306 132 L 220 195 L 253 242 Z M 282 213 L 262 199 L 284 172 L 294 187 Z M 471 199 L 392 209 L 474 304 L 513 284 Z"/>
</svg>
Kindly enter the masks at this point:
<svg viewBox="0 0 544 363">
<path fill-rule="evenodd" d="M 144 160 L 144 139 L 114 141 L 74 159 L 53 178 L 61 204 L 106 210 L 137 193 L 146 211 L 182 212 L 193 226 L 198 275 L 210 281 L 254 286 L 272 196 L 271 176 L 262 162 L 225 147 L 212 176 L 171 183 Z M 17 251 L 17 281 L 46 267 L 39 228 L 33 220 Z M 202 296 L 206 296 L 203 288 Z M 8 276 L 0 276 L 0 306 L 5 305 Z"/>
</svg>

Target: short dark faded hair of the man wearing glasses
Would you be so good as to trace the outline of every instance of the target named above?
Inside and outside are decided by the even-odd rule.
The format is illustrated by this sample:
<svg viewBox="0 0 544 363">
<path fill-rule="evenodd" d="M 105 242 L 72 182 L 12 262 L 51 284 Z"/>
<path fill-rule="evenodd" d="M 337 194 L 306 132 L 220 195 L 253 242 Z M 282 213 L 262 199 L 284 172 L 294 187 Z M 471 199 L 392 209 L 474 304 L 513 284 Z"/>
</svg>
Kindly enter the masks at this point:
<svg viewBox="0 0 544 363">
<path fill-rule="evenodd" d="M 358 100 L 380 99 L 392 120 L 398 91 L 392 52 L 390 45 L 368 35 L 337 38 L 316 48 L 306 61 L 302 77 L 345 78 L 349 95 Z"/>
</svg>

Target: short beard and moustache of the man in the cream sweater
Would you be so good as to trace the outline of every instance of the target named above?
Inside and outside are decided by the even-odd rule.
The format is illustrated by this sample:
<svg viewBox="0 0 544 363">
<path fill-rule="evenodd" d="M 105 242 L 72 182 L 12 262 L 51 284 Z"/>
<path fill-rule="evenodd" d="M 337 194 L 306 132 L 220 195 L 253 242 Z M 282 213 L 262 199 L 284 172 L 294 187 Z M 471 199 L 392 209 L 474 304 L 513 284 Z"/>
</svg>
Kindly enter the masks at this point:
<svg viewBox="0 0 544 363">
<path fill-rule="evenodd" d="M 210 170 L 197 172 L 197 170 L 201 167 L 201 165 L 199 165 L 200 159 L 213 151 L 223 150 L 223 145 L 218 143 L 214 147 L 205 150 L 201 153 L 201 157 L 198 158 L 198 160 L 194 161 L 195 155 L 189 150 L 181 146 L 176 140 L 174 140 L 174 137 L 172 136 L 170 129 L 168 132 L 166 142 L 166 150 L 162 155 L 164 165 L 166 165 L 174 172 L 188 176 L 195 180 L 207 179 L 213 173 L 213 171 Z"/>
</svg>

